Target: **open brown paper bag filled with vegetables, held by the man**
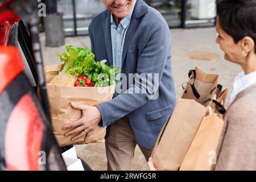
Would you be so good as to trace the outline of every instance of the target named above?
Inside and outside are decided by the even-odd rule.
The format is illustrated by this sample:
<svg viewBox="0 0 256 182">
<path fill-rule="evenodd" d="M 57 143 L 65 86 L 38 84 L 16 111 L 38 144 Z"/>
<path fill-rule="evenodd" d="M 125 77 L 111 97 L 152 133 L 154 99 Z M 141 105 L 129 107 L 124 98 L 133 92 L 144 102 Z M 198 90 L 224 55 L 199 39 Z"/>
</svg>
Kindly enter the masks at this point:
<svg viewBox="0 0 256 182">
<path fill-rule="evenodd" d="M 75 86 L 58 86 L 48 84 L 53 77 L 59 74 L 63 65 L 49 65 L 44 68 L 46 77 L 47 94 L 51 111 L 53 133 L 59 143 L 59 146 L 69 146 L 74 144 L 84 144 L 84 138 L 72 141 L 73 136 L 65 137 L 64 134 L 69 130 L 63 130 L 62 127 L 72 121 L 80 119 L 81 110 L 74 109 L 71 102 L 96 106 L 103 102 L 112 100 L 115 85 L 104 88 L 96 87 L 75 87 Z M 86 143 L 104 142 L 106 128 L 97 126 Z"/>
</svg>

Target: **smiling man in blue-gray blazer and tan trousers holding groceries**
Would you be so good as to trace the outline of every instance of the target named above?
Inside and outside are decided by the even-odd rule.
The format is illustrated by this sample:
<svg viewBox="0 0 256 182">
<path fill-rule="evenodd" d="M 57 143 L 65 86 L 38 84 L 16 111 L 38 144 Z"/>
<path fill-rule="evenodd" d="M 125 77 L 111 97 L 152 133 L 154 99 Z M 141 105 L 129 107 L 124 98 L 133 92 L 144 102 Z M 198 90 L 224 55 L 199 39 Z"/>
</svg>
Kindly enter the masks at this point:
<svg viewBox="0 0 256 182">
<path fill-rule="evenodd" d="M 163 16 L 142 0 L 102 2 L 106 10 L 89 25 L 92 52 L 96 60 L 106 59 L 108 65 L 121 69 L 127 89 L 96 107 L 72 103 L 83 115 L 64 128 L 77 127 L 67 135 L 77 133 L 75 139 L 86 140 L 97 125 L 111 125 L 106 138 L 108 169 L 129 170 L 137 144 L 146 160 L 151 156 L 176 104 L 170 30 Z M 131 84 L 130 73 L 134 76 Z M 156 79 L 145 80 L 142 74 Z"/>
</svg>

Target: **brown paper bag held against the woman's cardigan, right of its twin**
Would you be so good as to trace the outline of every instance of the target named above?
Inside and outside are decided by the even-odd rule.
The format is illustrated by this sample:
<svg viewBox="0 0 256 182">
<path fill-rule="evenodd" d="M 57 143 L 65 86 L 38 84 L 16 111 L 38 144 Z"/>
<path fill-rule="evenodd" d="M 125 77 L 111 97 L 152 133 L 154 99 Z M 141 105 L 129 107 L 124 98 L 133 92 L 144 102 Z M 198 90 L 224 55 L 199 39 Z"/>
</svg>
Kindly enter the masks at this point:
<svg viewBox="0 0 256 182">
<path fill-rule="evenodd" d="M 217 100 L 222 105 L 225 103 L 227 93 L 228 88 L 221 92 Z M 180 171 L 210 171 L 212 169 L 216 162 L 216 150 L 223 126 L 224 119 L 216 109 L 204 117 L 185 155 Z"/>
</svg>

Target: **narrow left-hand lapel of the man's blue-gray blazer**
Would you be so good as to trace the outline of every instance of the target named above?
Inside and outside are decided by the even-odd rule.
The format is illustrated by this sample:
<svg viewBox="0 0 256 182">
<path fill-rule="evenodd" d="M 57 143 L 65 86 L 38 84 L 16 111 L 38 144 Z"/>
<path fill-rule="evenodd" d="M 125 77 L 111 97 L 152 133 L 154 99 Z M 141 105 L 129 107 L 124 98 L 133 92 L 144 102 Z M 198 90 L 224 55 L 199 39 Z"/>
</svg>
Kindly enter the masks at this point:
<svg viewBox="0 0 256 182">
<path fill-rule="evenodd" d="M 105 46 L 109 56 L 109 63 L 113 65 L 113 57 L 112 57 L 112 41 L 111 41 L 111 31 L 110 31 L 110 12 L 106 11 L 108 14 L 105 19 L 102 20 L 102 26 L 104 30 L 105 37 Z"/>
</svg>

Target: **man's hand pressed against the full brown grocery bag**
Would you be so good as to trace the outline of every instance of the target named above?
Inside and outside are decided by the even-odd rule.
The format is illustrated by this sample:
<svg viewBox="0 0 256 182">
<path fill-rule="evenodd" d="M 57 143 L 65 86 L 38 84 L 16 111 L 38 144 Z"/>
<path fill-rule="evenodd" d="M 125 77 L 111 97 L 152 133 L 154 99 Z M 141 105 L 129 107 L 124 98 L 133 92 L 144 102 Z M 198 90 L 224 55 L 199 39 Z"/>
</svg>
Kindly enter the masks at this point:
<svg viewBox="0 0 256 182">
<path fill-rule="evenodd" d="M 72 123 L 63 126 L 63 130 L 75 128 L 66 133 L 65 136 L 68 137 L 70 135 L 77 134 L 72 138 L 72 140 L 76 140 L 81 137 L 85 137 L 86 135 L 84 138 L 84 141 L 86 141 L 101 121 L 100 110 L 95 106 L 81 105 L 74 102 L 71 102 L 71 106 L 75 109 L 82 110 L 82 117 L 77 121 L 73 121 Z"/>
</svg>

